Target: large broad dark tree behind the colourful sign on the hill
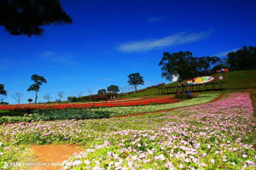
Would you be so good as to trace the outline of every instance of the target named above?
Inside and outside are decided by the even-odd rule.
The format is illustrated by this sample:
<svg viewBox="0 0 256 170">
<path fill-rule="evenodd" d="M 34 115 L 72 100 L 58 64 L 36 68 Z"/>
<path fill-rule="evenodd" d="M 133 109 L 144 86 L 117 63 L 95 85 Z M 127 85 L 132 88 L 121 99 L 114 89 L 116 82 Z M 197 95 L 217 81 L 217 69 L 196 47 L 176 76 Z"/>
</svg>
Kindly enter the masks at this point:
<svg viewBox="0 0 256 170">
<path fill-rule="evenodd" d="M 189 51 L 173 54 L 165 52 L 159 65 L 162 65 L 162 77 L 169 81 L 172 81 L 172 77 L 178 77 L 178 82 L 181 82 L 183 87 L 184 80 L 199 76 L 200 71 L 207 71 L 218 60 L 217 57 L 193 57 Z"/>
</svg>

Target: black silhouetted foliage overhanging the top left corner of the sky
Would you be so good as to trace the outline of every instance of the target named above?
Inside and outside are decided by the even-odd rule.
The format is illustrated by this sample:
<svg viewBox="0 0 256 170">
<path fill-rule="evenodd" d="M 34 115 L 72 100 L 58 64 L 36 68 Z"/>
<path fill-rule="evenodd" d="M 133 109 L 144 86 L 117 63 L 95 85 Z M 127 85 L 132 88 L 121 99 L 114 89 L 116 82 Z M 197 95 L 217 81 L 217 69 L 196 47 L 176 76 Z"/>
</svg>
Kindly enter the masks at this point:
<svg viewBox="0 0 256 170">
<path fill-rule="evenodd" d="M 11 35 L 41 36 L 42 26 L 70 24 L 59 0 L 1 0 L 0 26 Z"/>
</svg>

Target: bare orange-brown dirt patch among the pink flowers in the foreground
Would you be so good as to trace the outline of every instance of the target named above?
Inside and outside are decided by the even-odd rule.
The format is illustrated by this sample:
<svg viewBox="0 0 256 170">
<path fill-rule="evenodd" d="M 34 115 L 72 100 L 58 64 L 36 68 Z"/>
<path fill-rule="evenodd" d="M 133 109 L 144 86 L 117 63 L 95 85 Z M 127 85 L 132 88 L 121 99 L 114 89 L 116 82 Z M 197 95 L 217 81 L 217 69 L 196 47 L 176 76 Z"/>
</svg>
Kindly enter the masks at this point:
<svg viewBox="0 0 256 170">
<path fill-rule="evenodd" d="M 61 162 L 67 160 L 73 153 L 83 151 L 78 145 L 71 144 L 44 144 L 33 145 L 30 149 L 37 156 L 37 163 L 46 163 L 43 166 L 33 167 L 33 170 L 56 170 L 61 168 Z"/>
</svg>

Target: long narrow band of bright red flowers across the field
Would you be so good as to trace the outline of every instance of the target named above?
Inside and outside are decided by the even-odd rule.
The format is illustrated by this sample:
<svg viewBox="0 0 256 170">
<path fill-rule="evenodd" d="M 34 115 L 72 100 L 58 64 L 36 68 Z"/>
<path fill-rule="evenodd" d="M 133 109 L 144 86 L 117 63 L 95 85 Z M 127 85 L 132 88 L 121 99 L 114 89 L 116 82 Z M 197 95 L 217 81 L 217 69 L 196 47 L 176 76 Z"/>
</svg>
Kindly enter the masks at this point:
<svg viewBox="0 0 256 170">
<path fill-rule="evenodd" d="M 134 106 L 134 105 L 157 105 L 157 104 L 169 104 L 177 102 L 178 99 L 173 99 L 173 97 L 154 97 L 154 98 L 143 98 L 143 99 L 130 99 L 125 100 L 112 100 L 109 102 L 97 102 L 97 103 L 85 103 L 85 104 L 57 104 L 57 105 L 47 105 L 47 104 L 21 104 L 21 105 L 0 105 L 0 110 L 25 110 L 25 109 L 35 109 L 35 110 L 53 110 L 53 109 L 82 109 L 82 108 L 102 108 L 102 107 L 117 107 L 117 106 Z"/>
</svg>

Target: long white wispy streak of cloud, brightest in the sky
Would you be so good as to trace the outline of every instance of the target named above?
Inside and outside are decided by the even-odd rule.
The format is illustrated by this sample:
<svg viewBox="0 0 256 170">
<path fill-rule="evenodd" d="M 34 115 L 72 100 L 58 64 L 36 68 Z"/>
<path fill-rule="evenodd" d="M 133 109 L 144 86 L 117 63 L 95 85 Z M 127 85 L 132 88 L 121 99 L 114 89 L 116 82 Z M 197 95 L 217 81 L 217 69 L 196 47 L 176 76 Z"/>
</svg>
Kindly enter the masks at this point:
<svg viewBox="0 0 256 170">
<path fill-rule="evenodd" d="M 137 42 L 127 42 L 119 45 L 122 52 L 149 51 L 155 48 L 175 46 L 183 43 L 195 42 L 209 37 L 211 31 L 201 31 L 195 33 L 178 32 L 168 37 L 154 40 L 142 40 Z"/>
</svg>

